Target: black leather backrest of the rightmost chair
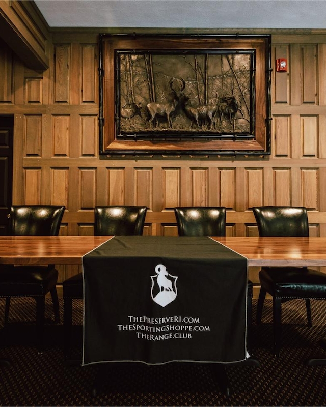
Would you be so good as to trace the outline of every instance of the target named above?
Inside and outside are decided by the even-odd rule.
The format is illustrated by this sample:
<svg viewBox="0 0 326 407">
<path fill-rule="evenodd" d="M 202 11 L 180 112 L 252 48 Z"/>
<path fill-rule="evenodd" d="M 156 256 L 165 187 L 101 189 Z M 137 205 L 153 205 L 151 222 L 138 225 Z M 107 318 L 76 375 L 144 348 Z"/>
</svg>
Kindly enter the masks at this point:
<svg viewBox="0 0 326 407">
<path fill-rule="evenodd" d="M 303 207 L 255 207 L 259 236 L 309 236 L 306 208 Z"/>
</svg>

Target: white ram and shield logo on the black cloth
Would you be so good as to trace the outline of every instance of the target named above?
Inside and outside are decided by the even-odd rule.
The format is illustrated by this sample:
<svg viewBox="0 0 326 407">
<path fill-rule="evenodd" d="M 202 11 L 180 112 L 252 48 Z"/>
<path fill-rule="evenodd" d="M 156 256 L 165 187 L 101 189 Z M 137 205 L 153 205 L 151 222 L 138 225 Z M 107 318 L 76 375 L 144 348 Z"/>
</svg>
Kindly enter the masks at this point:
<svg viewBox="0 0 326 407">
<path fill-rule="evenodd" d="M 156 304 L 165 307 L 177 297 L 178 292 L 176 282 L 178 277 L 169 274 L 167 268 L 162 264 L 158 264 L 155 267 L 155 272 L 157 275 L 151 276 L 151 296 Z"/>
</svg>

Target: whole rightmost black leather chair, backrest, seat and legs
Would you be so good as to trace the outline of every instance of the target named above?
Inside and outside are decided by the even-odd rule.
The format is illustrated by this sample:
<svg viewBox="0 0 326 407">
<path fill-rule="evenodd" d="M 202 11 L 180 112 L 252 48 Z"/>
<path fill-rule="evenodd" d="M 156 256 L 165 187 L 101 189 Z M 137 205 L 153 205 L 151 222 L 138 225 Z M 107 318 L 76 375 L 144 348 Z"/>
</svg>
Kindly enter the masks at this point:
<svg viewBox="0 0 326 407">
<path fill-rule="evenodd" d="M 303 207 L 255 207 L 259 236 L 308 237 L 309 224 Z M 307 267 L 263 267 L 259 272 L 260 292 L 257 324 L 261 322 L 266 293 L 273 297 L 274 353 L 279 355 L 282 333 L 282 302 L 305 299 L 308 326 L 312 325 L 310 299 L 326 298 L 326 274 Z"/>
</svg>

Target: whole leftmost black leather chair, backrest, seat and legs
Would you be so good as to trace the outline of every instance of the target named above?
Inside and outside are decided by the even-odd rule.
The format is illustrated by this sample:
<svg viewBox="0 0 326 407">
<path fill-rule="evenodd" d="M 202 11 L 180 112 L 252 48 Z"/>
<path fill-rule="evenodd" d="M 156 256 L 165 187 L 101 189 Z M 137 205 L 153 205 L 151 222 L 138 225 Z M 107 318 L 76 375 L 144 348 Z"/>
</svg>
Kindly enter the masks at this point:
<svg viewBox="0 0 326 407">
<path fill-rule="evenodd" d="M 64 206 L 12 206 L 9 214 L 9 235 L 55 236 L 59 234 Z M 5 324 L 9 319 L 11 297 L 33 297 L 36 300 L 36 327 L 38 350 L 43 351 L 45 295 L 50 292 L 59 323 L 59 300 L 56 289 L 58 271 L 55 265 L 5 266 L 0 270 L 0 297 L 6 297 Z"/>
</svg>

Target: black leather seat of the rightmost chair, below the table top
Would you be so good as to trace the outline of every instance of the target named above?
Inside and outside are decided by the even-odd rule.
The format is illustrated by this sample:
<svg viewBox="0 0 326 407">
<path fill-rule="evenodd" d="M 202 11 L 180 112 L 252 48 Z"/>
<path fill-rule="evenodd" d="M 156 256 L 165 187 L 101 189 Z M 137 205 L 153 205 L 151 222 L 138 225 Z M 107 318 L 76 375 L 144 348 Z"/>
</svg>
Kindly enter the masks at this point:
<svg viewBox="0 0 326 407">
<path fill-rule="evenodd" d="M 300 267 L 266 267 L 259 272 L 261 287 L 279 298 L 326 298 L 326 274 Z"/>
</svg>

